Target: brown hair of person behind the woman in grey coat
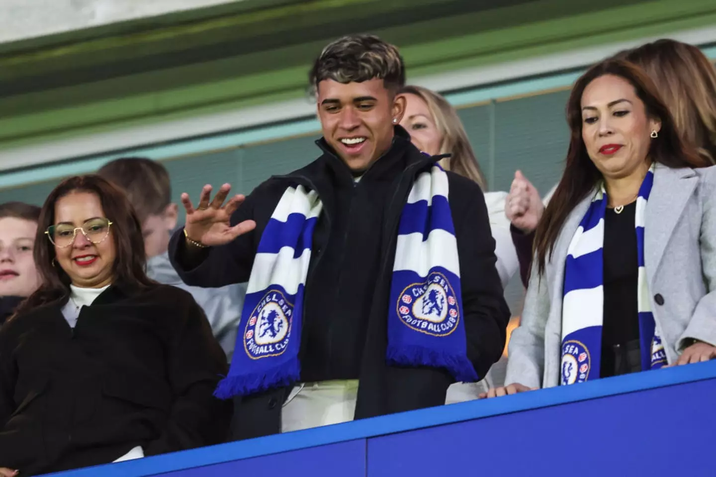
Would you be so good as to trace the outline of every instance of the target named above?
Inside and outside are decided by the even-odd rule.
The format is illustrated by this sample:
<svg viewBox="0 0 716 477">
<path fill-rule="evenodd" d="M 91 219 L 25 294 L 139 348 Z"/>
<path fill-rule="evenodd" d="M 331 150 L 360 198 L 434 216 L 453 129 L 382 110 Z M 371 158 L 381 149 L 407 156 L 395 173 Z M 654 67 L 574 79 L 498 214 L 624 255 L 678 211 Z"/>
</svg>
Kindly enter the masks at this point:
<svg viewBox="0 0 716 477">
<path fill-rule="evenodd" d="M 644 69 L 674 117 L 679 133 L 716 163 L 716 67 L 696 46 L 660 39 L 615 59 Z"/>
</svg>

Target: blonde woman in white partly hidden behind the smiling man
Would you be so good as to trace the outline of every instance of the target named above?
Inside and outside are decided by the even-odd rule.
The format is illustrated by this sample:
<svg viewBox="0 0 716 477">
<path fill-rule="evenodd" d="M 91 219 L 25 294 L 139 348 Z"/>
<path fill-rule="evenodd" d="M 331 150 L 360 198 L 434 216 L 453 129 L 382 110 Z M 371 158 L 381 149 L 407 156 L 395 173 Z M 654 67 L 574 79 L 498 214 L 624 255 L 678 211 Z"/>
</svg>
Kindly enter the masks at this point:
<svg viewBox="0 0 716 477">
<path fill-rule="evenodd" d="M 455 108 L 430 89 L 406 86 L 400 94 L 406 102 L 400 125 L 410 133 L 412 143 L 427 154 L 452 154 L 440 161 L 443 169 L 468 177 L 486 191 L 485 177 Z M 490 228 L 495 239 L 497 270 L 503 287 L 519 267 L 510 236 L 510 222 L 505 217 L 505 197 L 507 192 L 485 192 Z"/>
</svg>

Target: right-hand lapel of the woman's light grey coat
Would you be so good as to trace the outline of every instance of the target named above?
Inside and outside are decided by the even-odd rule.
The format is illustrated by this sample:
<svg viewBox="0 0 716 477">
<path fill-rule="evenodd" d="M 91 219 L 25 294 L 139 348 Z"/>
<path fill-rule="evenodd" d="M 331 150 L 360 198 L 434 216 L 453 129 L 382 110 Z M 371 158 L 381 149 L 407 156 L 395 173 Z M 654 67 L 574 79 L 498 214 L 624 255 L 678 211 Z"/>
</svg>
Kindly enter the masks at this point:
<svg viewBox="0 0 716 477">
<path fill-rule="evenodd" d="M 696 172 L 687 167 L 671 169 L 659 164 L 654 170 L 654 185 L 644 217 L 644 262 L 648 264 L 649 285 L 654 284 L 667 242 L 698 182 Z"/>
</svg>

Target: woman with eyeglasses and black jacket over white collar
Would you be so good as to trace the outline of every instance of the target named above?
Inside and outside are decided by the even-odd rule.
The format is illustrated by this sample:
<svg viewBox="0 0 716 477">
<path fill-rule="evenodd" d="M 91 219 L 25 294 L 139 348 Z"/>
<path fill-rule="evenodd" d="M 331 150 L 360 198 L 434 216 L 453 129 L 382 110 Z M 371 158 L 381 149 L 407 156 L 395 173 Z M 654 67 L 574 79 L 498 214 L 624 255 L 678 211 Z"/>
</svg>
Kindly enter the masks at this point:
<svg viewBox="0 0 716 477">
<path fill-rule="evenodd" d="M 188 292 L 145 275 L 125 195 L 72 177 L 38 230 L 42 285 L 0 329 L 0 476 L 223 441 L 226 355 Z"/>
</svg>

